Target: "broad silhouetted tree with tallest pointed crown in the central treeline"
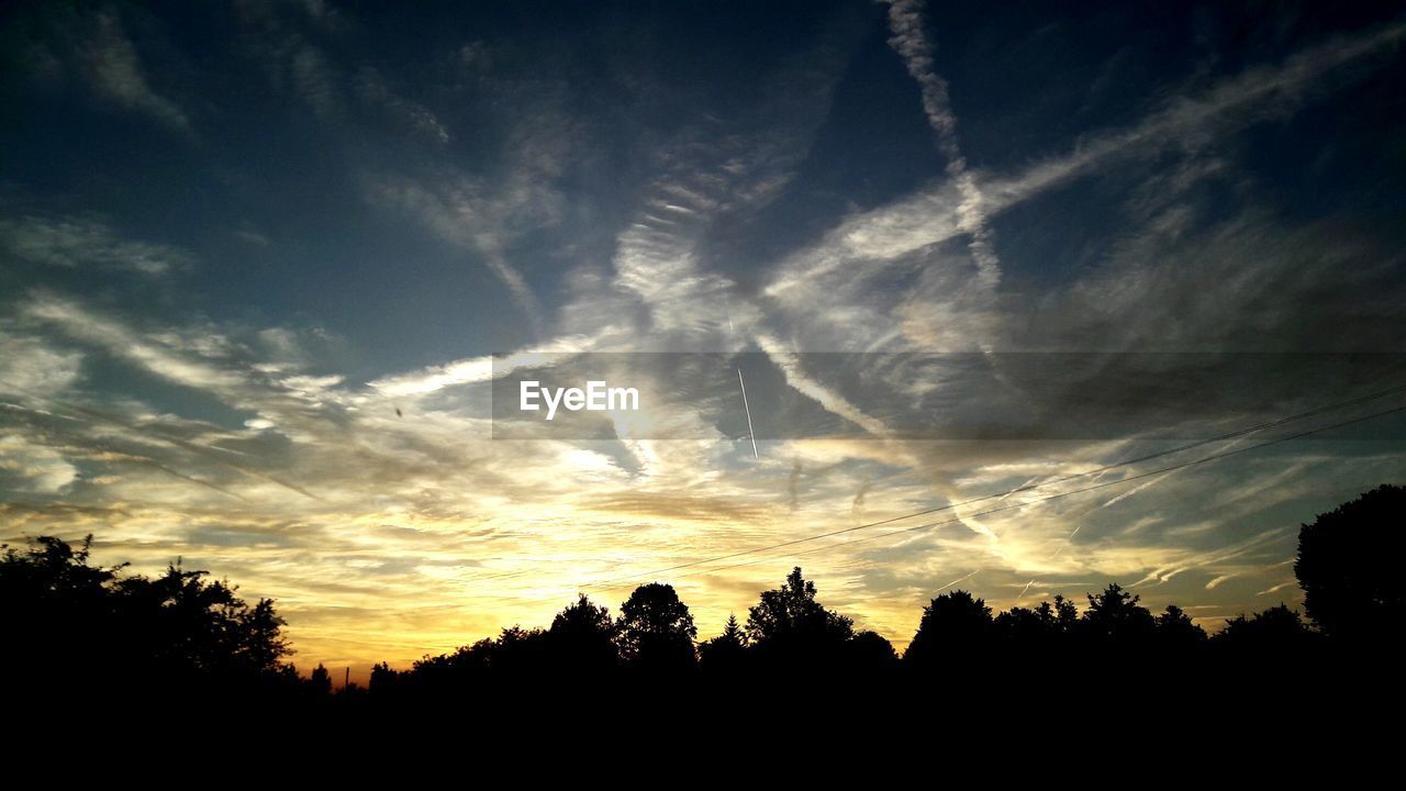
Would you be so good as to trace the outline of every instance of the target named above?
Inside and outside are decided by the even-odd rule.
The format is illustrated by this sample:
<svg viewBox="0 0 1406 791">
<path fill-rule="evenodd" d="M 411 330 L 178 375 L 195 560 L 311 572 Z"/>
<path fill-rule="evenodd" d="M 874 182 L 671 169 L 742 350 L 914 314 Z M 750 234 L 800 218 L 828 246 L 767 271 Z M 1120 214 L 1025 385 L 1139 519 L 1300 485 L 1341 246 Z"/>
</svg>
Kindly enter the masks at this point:
<svg viewBox="0 0 1406 791">
<path fill-rule="evenodd" d="M 762 591 L 747 615 L 748 642 L 773 657 L 832 659 L 852 635 L 853 622 L 815 601 L 815 583 L 799 566 L 782 587 Z"/>
</svg>

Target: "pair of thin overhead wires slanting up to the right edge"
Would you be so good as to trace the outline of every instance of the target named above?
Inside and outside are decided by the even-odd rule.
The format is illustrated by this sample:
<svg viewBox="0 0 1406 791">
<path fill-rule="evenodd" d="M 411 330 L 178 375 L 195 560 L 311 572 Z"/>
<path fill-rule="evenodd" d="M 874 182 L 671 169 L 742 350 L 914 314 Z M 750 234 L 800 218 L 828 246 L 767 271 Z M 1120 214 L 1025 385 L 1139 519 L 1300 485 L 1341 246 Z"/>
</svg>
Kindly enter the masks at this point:
<svg viewBox="0 0 1406 791">
<path fill-rule="evenodd" d="M 599 581 L 595 581 L 595 583 L 591 583 L 591 584 L 586 584 L 586 586 L 582 586 L 582 587 L 585 587 L 585 588 L 607 587 L 607 586 L 612 586 L 613 583 L 620 583 L 620 581 L 627 581 L 627 580 L 636 580 L 636 578 L 640 578 L 640 577 L 654 577 L 654 576 L 658 576 L 658 574 L 666 574 L 669 571 L 678 571 L 678 570 L 682 570 L 682 569 L 692 569 L 695 566 L 704 566 L 704 564 L 709 564 L 709 563 L 717 563 L 720 560 L 731 560 L 734 557 L 744 557 L 744 556 L 756 555 L 756 553 L 761 553 L 761 552 L 770 552 L 773 549 L 785 549 L 787 546 L 794 546 L 794 545 L 799 545 L 799 543 L 808 543 L 808 542 L 813 542 L 813 540 L 820 540 L 820 539 L 824 539 L 824 538 L 832 538 L 832 536 L 837 536 L 837 535 L 851 533 L 851 532 L 855 532 L 855 531 L 863 531 L 863 529 L 869 529 L 869 528 L 877 528 L 877 526 L 889 525 L 889 524 L 893 524 L 893 522 L 901 522 L 901 521 L 905 521 L 905 519 L 912 519 L 915 517 L 925 517 L 928 514 L 936 514 L 936 512 L 948 511 L 948 510 L 952 510 L 952 508 L 962 508 L 965 505 L 973 505 L 973 504 L 977 504 L 977 502 L 986 502 L 988 500 L 1004 500 L 1004 498 L 1007 498 L 1007 497 L 1010 497 L 1012 494 L 1019 494 L 1022 491 L 1038 490 L 1038 488 L 1043 488 L 1043 487 L 1047 487 L 1047 486 L 1052 486 L 1052 484 L 1056 484 L 1056 483 L 1067 483 L 1070 480 L 1077 480 L 1077 479 L 1084 479 L 1084 477 L 1090 477 L 1090 476 L 1097 476 L 1097 474 L 1101 474 L 1101 473 L 1105 473 L 1108 470 L 1114 470 L 1114 469 L 1118 469 L 1118 467 L 1126 467 L 1126 466 L 1130 466 L 1130 464 L 1137 464 L 1137 463 L 1142 463 L 1142 462 L 1149 462 L 1152 459 L 1159 459 L 1161 456 L 1171 456 L 1171 455 L 1175 455 L 1175 453 L 1191 450 L 1194 448 L 1201 448 L 1201 446 L 1205 446 L 1205 445 L 1211 445 L 1211 443 L 1216 443 L 1216 442 L 1223 442 L 1223 441 L 1227 441 L 1227 439 L 1234 439 L 1234 438 L 1239 438 L 1239 436 L 1244 436 L 1247 434 L 1256 434 L 1256 432 L 1265 431 L 1265 429 L 1270 429 L 1270 428 L 1277 428 L 1277 426 L 1281 426 L 1281 425 L 1285 425 L 1285 424 L 1289 424 L 1289 422 L 1296 422 L 1296 421 L 1302 421 L 1302 419 L 1312 418 L 1312 417 L 1316 417 L 1316 415 L 1322 415 L 1324 412 L 1341 410 L 1341 408 L 1357 405 L 1357 404 L 1362 404 L 1362 403 L 1367 403 L 1367 401 L 1374 401 L 1376 398 L 1381 398 L 1381 397 L 1385 397 L 1385 396 L 1391 396 L 1391 394 L 1395 394 L 1395 393 L 1402 393 L 1402 391 L 1406 391 L 1406 386 L 1398 386 L 1398 387 L 1391 387 L 1391 388 L 1386 388 L 1386 390 L 1379 390 L 1376 393 L 1369 393 L 1367 396 L 1358 396 L 1358 397 L 1350 398 L 1347 401 L 1339 401 L 1339 403 L 1329 404 L 1329 405 L 1324 405 L 1324 407 L 1317 407 L 1317 408 L 1313 408 L 1313 410 L 1309 410 L 1309 411 L 1305 411 L 1305 412 L 1298 412 L 1298 414 L 1288 415 L 1288 417 L 1284 417 L 1284 418 L 1277 418 L 1277 419 L 1267 421 L 1267 422 L 1263 422 L 1263 424 L 1257 424 L 1257 425 L 1253 425 L 1253 426 L 1236 429 L 1236 431 L 1232 431 L 1232 432 L 1227 432 L 1227 434 L 1212 436 L 1209 439 L 1199 439 L 1197 442 L 1189 442 L 1187 445 L 1181 445 L 1181 446 L 1171 448 L 1171 449 L 1167 449 L 1167 450 L 1159 450 L 1156 453 L 1149 453 L 1146 456 L 1137 456 L 1135 459 L 1125 459 L 1122 462 L 1115 462 L 1115 463 L 1111 463 L 1111 464 L 1104 464 L 1101 467 L 1095 467 L 1092 470 L 1084 470 L 1081 473 L 1071 473 L 1071 474 L 1067 474 L 1067 476 L 1060 476 L 1060 477 L 1049 479 L 1049 480 L 1045 480 L 1045 481 L 1040 481 L 1040 483 L 1032 483 L 1032 484 L 1019 486 L 1019 487 L 1015 487 L 1015 488 L 1011 488 L 1011 490 L 1007 490 L 1007 491 L 1001 491 L 1001 493 L 997 493 L 997 494 L 987 494 L 987 495 L 983 495 L 983 497 L 974 497 L 972 500 L 965 500 L 962 502 L 949 502 L 946 505 L 938 505 L 938 507 L 934 507 L 934 508 L 927 508 L 924 511 L 914 511 L 911 514 L 903 514 L 900 517 L 890 517 L 887 519 L 879 519 L 876 522 L 866 522 L 863 525 L 855 525 L 855 526 L 851 526 L 851 528 L 841 528 L 841 529 L 835 529 L 835 531 L 830 531 L 830 532 L 824 532 L 824 533 L 817 533 L 817 535 L 813 535 L 813 536 L 804 536 L 804 538 L 799 538 L 799 539 L 792 539 L 792 540 L 785 540 L 785 542 L 773 543 L 773 545 L 769 545 L 769 546 L 759 546 L 759 548 L 755 548 L 755 549 L 744 549 L 744 550 L 733 552 L 733 553 L 728 553 L 728 555 L 720 555 L 717 557 L 706 557 L 706 559 L 702 559 L 702 560 L 690 560 L 688 563 L 679 563 L 679 564 L 669 566 L 669 567 L 665 567 L 665 569 L 657 569 L 654 571 L 644 571 L 644 573 L 638 573 L 638 574 L 627 574 L 627 576 L 621 576 L 621 577 L 612 577 L 612 578 L 607 578 L 607 580 L 599 580 Z M 1403 408 L 1406 408 L 1406 407 L 1403 407 Z M 1396 410 L 1391 410 L 1391 411 L 1396 411 Z M 1372 415 L 1372 417 L 1379 417 L 1382 414 L 1389 414 L 1391 411 L 1381 412 L 1381 414 Z M 1350 421 L 1350 422 L 1355 422 L 1355 421 Z M 1343 425 L 1348 425 L 1348 424 L 1343 424 Z M 1281 441 L 1295 439 L 1298 436 L 1306 436 L 1308 434 L 1316 434 L 1317 431 L 1326 431 L 1327 428 L 1336 428 L 1336 426 L 1330 425 L 1330 426 L 1324 426 L 1323 429 L 1315 429 L 1315 431 L 1310 431 L 1310 432 L 1306 432 L 1306 434 L 1301 434 L 1301 435 L 1291 435 L 1291 436 L 1282 438 Z M 1275 441 L 1275 442 L 1279 442 L 1279 441 Z M 1253 446 L 1250 446 L 1247 449 L 1241 449 L 1241 450 L 1253 450 L 1256 448 L 1264 448 L 1264 445 L 1253 445 Z M 1218 457 L 1223 457 L 1223 456 L 1211 456 L 1211 457 L 1208 457 L 1205 460 L 1213 460 L 1213 459 L 1218 459 Z M 1194 462 L 1194 463 L 1201 463 L 1201 462 Z M 1180 469 L 1180 467 L 1171 467 L 1171 469 Z M 1168 472 L 1168 470 L 1159 470 L 1159 472 Z M 1157 473 L 1150 473 L 1150 474 L 1157 474 Z M 1119 479 L 1118 481 L 1109 481 L 1109 483 L 1104 483 L 1104 484 L 1098 484 L 1098 486 L 1111 486 L 1114 483 L 1125 483 L 1125 481 L 1130 481 L 1130 480 L 1137 480 L 1140 477 L 1147 477 L 1147 476 L 1142 474 L 1142 476 L 1129 477 L 1129 479 Z M 1097 488 L 1097 487 L 1094 487 L 1094 488 Z M 1073 493 L 1064 493 L 1064 494 L 1073 494 Z M 1060 495 L 1056 495 L 1056 497 L 1063 497 L 1064 494 L 1060 494 Z M 1039 502 L 1039 500 L 1032 501 L 1032 502 Z M 1010 507 L 1005 507 L 1005 508 L 1010 508 Z M 1001 510 L 1005 510 L 1005 508 L 1001 508 Z M 973 514 L 973 515 L 979 515 L 979 514 Z M 942 522 L 942 524 L 946 524 L 946 522 Z M 901 532 L 901 531 L 898 531 L 898 532 Z M 893 535 L 893 533 L 890 532 L 890 533 L 883 533 L 883 535 Z M 849 542 L 845 542 L 845 543 L 849 543 Z M 842 546 L 842 543 L 841 545 L 832 545 L 832 546 Z M 808 553 L 808 550 L 806 553 Z M 797 555 L 804 555 L 804 553 L 797 553 Z M 747 563 L 744 563 L 742 566 L 745 566 L 745 564 Z M 723 569 L 734 569 L 734 567 L 737 567 L 737 566 L 725 566 Z M 721 569 L 713 569 L 713 570 L 716 571 L 716 570 L 721 570 Z M 685 574 L 685 577 L 688 577 L 688 576 L 693 576 L 693 574 Z"/>
</svg>

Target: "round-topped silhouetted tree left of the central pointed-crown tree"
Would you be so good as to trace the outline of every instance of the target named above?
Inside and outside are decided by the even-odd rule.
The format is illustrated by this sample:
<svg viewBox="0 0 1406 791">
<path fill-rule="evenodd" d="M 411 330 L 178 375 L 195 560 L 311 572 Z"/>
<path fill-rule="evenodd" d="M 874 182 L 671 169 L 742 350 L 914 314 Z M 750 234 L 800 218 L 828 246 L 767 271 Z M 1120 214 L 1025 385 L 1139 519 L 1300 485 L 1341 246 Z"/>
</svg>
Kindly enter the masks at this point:
<svg viewBox="0 0 1406 791">
<path fill-rule="evenodd" d="M 695 663 L 697 626 L 673 586 L 650 583 L 634 588 L 620 605 L 616 622 L 620 656 L 645 670 L 689 667 Z"/>
</svg>

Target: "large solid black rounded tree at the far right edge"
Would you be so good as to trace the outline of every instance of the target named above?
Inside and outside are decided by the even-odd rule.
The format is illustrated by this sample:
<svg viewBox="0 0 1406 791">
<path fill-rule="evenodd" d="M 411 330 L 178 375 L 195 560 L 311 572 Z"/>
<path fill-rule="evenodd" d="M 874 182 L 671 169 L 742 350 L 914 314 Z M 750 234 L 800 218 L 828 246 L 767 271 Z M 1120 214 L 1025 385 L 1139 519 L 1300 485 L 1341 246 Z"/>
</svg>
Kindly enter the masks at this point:
<svg viewBox="0 0 1406 791">
<path fill-rule="evenodd" d="M 1301 526 L 1294 573 L 1324 635 L 1371 639 L 1406 625 L 1406 588 L 1396 584 L 1403 515 L 1406 488 L 1381 486 Z"/>
</svg>

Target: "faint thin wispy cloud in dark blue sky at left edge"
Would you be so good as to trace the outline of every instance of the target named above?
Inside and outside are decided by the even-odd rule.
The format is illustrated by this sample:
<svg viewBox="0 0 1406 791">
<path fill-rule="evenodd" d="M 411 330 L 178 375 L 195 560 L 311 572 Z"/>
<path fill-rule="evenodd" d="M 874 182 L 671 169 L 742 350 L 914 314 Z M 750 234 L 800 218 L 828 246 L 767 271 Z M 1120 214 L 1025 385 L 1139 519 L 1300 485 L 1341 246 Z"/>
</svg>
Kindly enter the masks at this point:
<svg viewBox="0 0 1406 791">
<path fill-rule="evenodd" d="M 0 220 L 0 245 L 27 262 L 67 269 L 165 274 L 195 263 L 180 248 L 124 239 L 110 225 L 83 217 Z"/>
</svg>

